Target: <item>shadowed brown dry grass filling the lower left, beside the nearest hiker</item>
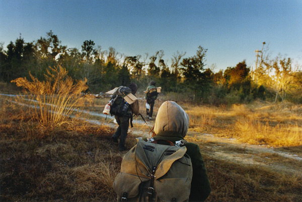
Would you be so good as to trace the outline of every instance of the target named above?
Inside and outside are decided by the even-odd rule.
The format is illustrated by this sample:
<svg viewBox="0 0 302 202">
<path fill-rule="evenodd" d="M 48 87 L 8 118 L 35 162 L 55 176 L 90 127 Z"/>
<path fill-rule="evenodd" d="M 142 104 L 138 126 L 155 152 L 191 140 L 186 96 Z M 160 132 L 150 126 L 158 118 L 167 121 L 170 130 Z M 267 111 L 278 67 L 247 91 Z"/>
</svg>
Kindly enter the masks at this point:
<svg viewBox="0 0 302 202">
<path fill-rule="evenodd" d="M 111 142 L 113 129 L 80 121 L 41 129 L 24 111 L 2 104 L 1 201 L 115 199 L 112 183 L 122 154 Z"/>
</svg>

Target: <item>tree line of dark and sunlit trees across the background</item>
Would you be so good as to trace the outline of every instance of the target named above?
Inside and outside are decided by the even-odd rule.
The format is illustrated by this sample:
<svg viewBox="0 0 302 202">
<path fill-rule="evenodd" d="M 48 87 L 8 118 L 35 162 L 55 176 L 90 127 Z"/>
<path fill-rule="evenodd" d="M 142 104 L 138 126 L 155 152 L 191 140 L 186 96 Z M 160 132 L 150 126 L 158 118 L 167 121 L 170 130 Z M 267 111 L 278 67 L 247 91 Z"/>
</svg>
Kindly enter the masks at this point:
<svg viewBox="0 0 302 202">
<path fill-rule="evenodd" d="M 272 58 L 268 45 L 263 43 L 257 55 L 259 64 L 251 69 L 246 61 L 234 67 L 214 72 L 207 67 L 207 49 L 198 46 L 196 54 L 173 54 L 170 66 L 165 63 L 164 51 L 153 55 L 126 56 L 113 47 L 103 50 L 94 41 L 86 40 L 82 49 L 61 44 L 52 31 L 46 37 L 25 42 L 21 37 L 10 42 L 6 49 L 0 44 L 0 80 L 10 82 L 18 77 L 29 77 L 29 72 L 44 79 L 47 68 L 62 66 L 77 80 L 87 78 L 89 91 L 105 92 L 130 82 L 138 84 L 140 91 L 155 80 L 165 94 L 183 94 L 186 101 L 209 104 L 246 103 L 255 99 L 278 102 L 290 100 L 302 103 L 302 71 L 293 67 L 292 59 L 278 55 Z"/>
</svg>

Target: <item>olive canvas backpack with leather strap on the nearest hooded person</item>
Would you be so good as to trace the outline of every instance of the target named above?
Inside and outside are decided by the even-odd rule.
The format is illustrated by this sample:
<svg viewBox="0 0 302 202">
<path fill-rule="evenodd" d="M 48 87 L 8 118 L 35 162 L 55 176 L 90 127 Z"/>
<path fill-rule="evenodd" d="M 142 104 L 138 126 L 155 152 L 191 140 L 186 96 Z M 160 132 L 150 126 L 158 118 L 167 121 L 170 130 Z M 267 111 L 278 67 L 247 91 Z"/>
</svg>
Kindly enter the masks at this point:
<svg viewBox="0 0 302 202">
<path fill-rule="evenodd" d="M 191 159 L 186 147 L 172 145 L 137 138 L 137 144 L 124 155 L 113 183 L 117 201 L 188 201 Z"/>
</svg>

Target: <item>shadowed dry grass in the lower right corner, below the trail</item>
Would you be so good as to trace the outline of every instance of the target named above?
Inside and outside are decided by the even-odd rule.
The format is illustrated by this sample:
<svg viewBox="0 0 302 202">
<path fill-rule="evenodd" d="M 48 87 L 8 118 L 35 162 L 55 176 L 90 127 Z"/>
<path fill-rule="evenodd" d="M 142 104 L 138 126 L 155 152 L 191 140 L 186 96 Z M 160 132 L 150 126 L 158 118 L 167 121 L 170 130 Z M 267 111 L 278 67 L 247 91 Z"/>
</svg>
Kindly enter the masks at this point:
<svg viewBox="0 0 302 202">
<path fill-rule="evenodd" d="M 203 155 L 212 192 L 207 201 L 300 201 L 302 178 L 261 166 L 213 160 Z"/>
</svg>

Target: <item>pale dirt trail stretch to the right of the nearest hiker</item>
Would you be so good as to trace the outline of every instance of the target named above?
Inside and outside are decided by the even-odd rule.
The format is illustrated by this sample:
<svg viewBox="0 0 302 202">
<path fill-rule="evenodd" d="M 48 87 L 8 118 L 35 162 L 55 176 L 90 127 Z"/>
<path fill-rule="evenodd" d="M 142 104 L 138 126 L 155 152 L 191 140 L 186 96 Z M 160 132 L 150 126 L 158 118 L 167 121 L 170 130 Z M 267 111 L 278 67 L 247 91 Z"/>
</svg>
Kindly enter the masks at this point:
<svg viewBox="0 0 302 202">
<path fill-rule="evenodd" d="M 302 174 L 302 156 L 280 148 L 240 143 L 236 139 L 215 137 L 211 134 L 189 132 L 189 137 L 201 141 L 201 150 L 215 159 L 238 164 L 263 166 L 278 172 Z"/>
</svg>

